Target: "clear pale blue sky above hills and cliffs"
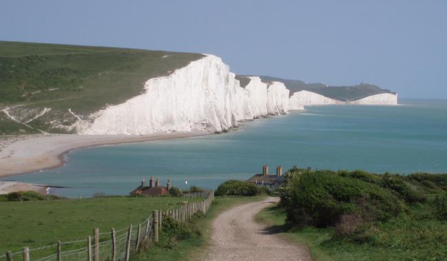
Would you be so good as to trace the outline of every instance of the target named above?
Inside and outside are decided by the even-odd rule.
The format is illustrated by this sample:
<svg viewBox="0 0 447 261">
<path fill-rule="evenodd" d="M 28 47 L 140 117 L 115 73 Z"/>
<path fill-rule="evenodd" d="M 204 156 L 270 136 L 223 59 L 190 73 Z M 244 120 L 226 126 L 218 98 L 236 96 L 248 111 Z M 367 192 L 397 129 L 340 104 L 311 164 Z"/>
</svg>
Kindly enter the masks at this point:
<svg viewBox="0 0 447 261">
<path fill-rule="evenodd" d="M 447 99 L 446 0 L 1 0 L 0 40 L 202 52 L 235 73 Z"/>
</svg>

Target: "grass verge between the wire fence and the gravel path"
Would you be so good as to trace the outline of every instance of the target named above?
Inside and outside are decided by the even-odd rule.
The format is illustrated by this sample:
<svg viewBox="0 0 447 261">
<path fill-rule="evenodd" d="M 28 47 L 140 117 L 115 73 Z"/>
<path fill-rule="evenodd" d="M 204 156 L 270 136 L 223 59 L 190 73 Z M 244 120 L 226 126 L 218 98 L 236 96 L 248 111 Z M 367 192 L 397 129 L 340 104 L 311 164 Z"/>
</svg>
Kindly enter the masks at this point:
<svg viewBox="0 0 447 261">
<path fill-rule="evenodd" d="M 199 239 L 191 238 L 177 242 L 173 249 L 165 249 L 151 245 L 149 249 L 143 251 L 131 258 L 131 260 L 204 260 L 208 249 L 211 245 L 212 221 L 221 212 L 230 209 L 235 205 L 249 203 L 253 201 L 260 201 L 264 196 L 259 197 L 233 197 L 226 198 L 217 196 L 214 203 L 212 203 L 208 214 L 203 218 L 198 218 L 193 221 L 193 225 L 201 232 Z"/>
</svg>

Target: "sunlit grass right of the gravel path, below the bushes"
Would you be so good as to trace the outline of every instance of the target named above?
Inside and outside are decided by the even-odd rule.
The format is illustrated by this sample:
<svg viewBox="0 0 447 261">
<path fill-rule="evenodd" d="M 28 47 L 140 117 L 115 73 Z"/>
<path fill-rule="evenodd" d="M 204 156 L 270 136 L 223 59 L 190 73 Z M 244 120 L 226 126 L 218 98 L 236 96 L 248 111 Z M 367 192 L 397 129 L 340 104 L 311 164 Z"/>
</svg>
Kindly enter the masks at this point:
<svg viewBox="0 0 447 261">
<path fill-rule="evenodd" d="M 424 214 L 423 209 L 419 211 Z M 268 207 L 257 219 L 309 247 L 315 260 L 419 260 L 422 256 L 424 260 L 438 260 L 431 257 L 447 254 L 442 242 L 447 224 L 441 221 L 398 218 L 380 223 L 375 233 L 382 238 L 383 245 L 377 247 L 332 240 L 334 231 L 331 228 L 291 227 L 285 223 L 285 216 L 278 207 Z M 439 242 L 434 244 L 437 240 Z"/>
</svg>

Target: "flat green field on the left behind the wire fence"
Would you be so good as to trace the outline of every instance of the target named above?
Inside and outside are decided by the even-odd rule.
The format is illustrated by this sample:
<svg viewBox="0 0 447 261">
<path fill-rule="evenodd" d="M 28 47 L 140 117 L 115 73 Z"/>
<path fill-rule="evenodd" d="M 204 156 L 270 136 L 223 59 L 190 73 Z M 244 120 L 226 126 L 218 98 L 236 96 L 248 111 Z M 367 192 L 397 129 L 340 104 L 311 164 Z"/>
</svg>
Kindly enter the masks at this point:
<svg viewBox="0 0 447 261">
<path fill-rule="evenodd" d="M 43 247 L 57 240 L 85 239 L 94 227 L 99 227 L 100 232 L 108 232 L 111 227 L 122 229 L 142 222 L 152 209 L 170 209 L 184 201 L 185 198 L 119 196 L 0 202 L 0 253 L 25 246 Z"/>
</svg>

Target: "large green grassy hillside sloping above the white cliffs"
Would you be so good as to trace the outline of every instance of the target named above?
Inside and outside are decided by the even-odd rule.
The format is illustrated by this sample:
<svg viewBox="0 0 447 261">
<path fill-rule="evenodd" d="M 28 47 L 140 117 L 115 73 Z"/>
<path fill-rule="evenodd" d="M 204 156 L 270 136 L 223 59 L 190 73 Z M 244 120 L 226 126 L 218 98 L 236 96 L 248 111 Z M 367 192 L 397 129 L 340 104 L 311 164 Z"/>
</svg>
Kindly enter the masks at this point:
<svg viewBox="0 0 447 261">
<path fill-rule="evenodd" d="M 68 109 L 85 117 L 107 104 L 120 104 L 142 93 L 149 78 L 166 76 L 201 57 L 142 49 L 0 41 L 0 109 L 21 105 L 11 113 L 23 117 L 33 109 L 52 108 L 29 125 L 61 132 L 49 122 L 72 124 L 76 118 Z M 35 114 L 30 113 L 23 121 Z M 0 135 L 23 133 L 21 129 L 38 132 L 4 117 L 1 113 Z"/>
</svg>

